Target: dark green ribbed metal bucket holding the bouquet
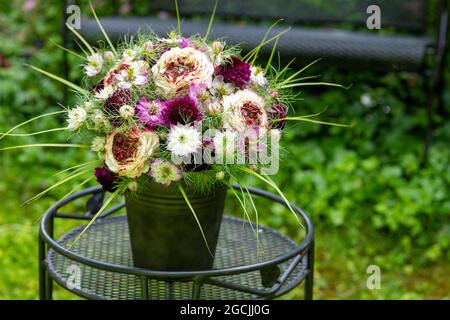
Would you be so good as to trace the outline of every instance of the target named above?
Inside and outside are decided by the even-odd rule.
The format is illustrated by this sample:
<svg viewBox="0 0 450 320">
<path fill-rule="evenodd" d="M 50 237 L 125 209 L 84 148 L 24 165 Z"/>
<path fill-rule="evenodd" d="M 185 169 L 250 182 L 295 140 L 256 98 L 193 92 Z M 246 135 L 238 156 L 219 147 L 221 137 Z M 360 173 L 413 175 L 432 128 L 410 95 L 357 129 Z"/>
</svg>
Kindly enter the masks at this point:
<svg viewBox="0 0 450 320">
<path fill-rule="evenodd" d="M 202 193 L 184 185 L 199 226 L 178 186 L 150 182 L 125 197 L 133 261 L 136 267 L 161 271 L 212 268 L 226 197 L 218 185 Z"/>
</svg>

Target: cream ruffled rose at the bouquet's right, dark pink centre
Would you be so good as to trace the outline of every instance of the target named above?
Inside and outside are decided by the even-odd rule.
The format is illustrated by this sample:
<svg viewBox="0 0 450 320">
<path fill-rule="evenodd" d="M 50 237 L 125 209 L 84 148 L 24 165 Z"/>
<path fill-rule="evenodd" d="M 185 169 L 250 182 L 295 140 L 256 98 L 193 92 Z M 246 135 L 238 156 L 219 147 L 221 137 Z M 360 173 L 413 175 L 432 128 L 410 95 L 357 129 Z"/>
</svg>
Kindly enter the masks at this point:
<svg viewBox="0 0 450 320">
<path fill-rule="evenodd" d="M 246 128 L 269 127 L 263 97 L 250 89 L 223 97 L 224 128 L 243 131 Z"/>
</svg>

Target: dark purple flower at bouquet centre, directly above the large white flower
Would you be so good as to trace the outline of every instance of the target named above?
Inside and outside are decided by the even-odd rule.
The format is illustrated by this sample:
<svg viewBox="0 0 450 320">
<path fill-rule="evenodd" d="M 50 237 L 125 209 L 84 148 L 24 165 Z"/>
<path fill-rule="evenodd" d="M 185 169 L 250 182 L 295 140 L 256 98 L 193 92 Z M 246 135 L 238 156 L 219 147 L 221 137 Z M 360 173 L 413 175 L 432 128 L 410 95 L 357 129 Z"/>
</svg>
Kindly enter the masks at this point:
<svg viewBox="0 0 450 320">
<path fill-rule="evenodd" d="M 195 101 L 189 96 L 175 98 L 163 102 L 161 118 L 168 127 L 177 124 L 188 124 L 203 119 L 203 114 Z"/>
</svg>

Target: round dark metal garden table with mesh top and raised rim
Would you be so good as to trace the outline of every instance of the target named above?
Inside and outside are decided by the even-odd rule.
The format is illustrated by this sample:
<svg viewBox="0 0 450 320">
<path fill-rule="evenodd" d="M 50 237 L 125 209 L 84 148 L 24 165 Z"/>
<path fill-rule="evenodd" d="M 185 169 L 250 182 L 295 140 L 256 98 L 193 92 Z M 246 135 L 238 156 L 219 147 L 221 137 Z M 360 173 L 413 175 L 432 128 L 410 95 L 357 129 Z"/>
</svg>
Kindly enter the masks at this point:
<svg viewBox="0 0 450 320">
<path fill-rule="evenodd" d="M 233 186 L 239 189 L 239 186 Z M 256 196 L 285 205 L 269 192 L 248 188 Z M 92 187 L 67 197 L 44 215 L 39 232 L 40 299 L 53 298 L 54 282 L 87 299 L 271 299 L 305 282 L 305 299 L 312 299 L 314 227 L 295 204 L 303 220 L 305 237 L 296 243 L 281 233 L 225 216 L 211 270 L 165 272 L 133 266 L 124 204 L 103 212 L 87 232 L 71 246 L 83 226 L 54 239 L 56 220 L 92 219 L 88 213 L 64 213 L 76 201 L 103 201 L 101 187 Z M 286 206 L 286 205 L 285 205 Z M 89 206 L 88 206 L 89 207 Z M 98 206 L 97 209 L 98 210 Z M 91 212 L 89 212 L 91 211 Z M 114 215 L 113 215 L 114 214 Z M 111 216 L 113 215 L 113 216 Z"/>
</svg>

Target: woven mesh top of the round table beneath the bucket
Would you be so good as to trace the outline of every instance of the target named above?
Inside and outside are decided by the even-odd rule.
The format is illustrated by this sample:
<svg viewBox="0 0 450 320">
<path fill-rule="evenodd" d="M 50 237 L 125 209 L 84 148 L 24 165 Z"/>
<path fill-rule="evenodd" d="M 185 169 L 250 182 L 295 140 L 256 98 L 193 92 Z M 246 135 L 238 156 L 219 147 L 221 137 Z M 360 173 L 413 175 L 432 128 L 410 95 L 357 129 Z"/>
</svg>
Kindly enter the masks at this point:
<svg viewBox="0 0 450 320">
<path fill-rule="evenodd" d="M 254 227 L 254 225 L 253 225 Z M 73 229 L 58 240 L 63 247 L 68 247 L 81 232 L 83 226 Z M 251 225 L 243 220 L 225 217 L 221 225 L 219 241 L 214 260 L 214 269 L 223 269 L 277 258 L 295 248 L 296 244 L 282 234 L 264 227 L 259 227 L 260 247 L 257 250 L 256 236 Z M 105 218 L 95 222 L 81 239 L 70 249 L 84 257 L 97 261 L 133 267 L 131 246 L 126 216 Z M 289 266 L 287 261 L 279 265 L 281 272 Z M 141 299 L 141 279 L 127 275 L 88 267 L 65 256 L 49 251 L 46 263 L 52 277 L 64 287 L 73 275 L 73 266 L 80 271 L 79 290 L 74 291 L 84 297 L 97 299 Z M 72 266 L 72 267 L 71 267 Z M 72 272 L 72 273 L 71 273 Z M 306 258 L 297 265 L 283 285 L 280 293 L 295 287 L 306 275 Z M 238 275 L 218 276 L 217 280 L 239 284 L 253 289 L 265 289 L 261 283 L 259 271 Z M 190 299 L 192 281 L 166 282 L 148 279 L 149 299 Z M 255 299 L 258 296 L 232 289 L 203 284 L 200 299 Z"/>
</svg>

